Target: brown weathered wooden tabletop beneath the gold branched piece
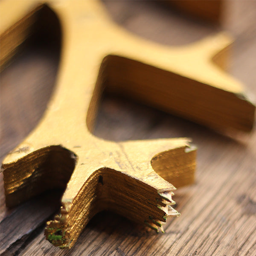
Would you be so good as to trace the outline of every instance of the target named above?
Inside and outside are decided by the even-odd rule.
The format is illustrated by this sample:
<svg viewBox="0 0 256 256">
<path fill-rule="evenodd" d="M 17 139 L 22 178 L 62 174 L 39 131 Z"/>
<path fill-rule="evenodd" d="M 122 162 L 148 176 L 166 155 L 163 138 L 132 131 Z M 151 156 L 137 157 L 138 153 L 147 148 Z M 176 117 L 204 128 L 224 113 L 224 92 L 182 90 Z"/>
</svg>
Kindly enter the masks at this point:
<svg viewBox="0 0 256 256">
<path fill-rule="evenodd" d="M 227 1 L 224 28 L 236 42 L 229 72 L 256 97 L 256 1 Z M 221 28 L 152 1 L 105 1 L 126 29 L 162 44 L 180 45 Z M 26 47 L 1 73 L 1 160 L 41 118 L 58 70 L 58 50 Z M 165 234 L 111 212 L 97 214 L 70 250 L 44 237 L 45 222 L 58 211 L 61 191 L 6 209 L 0 176 L 1 255 L 256 255 L 256 129 L 219 134 L 128 99 L 105 95 L 95 134 L 108 140 L 191 137 L 198 146 L 196 183 L 175 193 L 179 218 Z"/>
</svg>

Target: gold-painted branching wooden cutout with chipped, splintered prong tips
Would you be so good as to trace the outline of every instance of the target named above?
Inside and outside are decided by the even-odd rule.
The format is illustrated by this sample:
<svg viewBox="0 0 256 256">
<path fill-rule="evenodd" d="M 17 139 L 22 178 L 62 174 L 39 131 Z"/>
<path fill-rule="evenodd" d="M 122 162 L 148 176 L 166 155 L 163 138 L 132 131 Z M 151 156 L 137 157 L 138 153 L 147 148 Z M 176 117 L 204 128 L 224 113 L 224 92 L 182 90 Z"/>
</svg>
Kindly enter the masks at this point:
<svg viewBox="0 0 256 256">
<path fill-rule="evenodd" d="M 2 164 L 8 207 L 47 189 L 65 189 L 60 213 L 45 230 L 55 246 L 72 247 L 103 209 L 162 230 L 167 216 L 179 215 L 171 207 L 175 186 L 194 181 L 196 148 L 187 138 L 112 142 L 91 133 L 104 86 L 209 127 L 253 126 L 255 106 L 219 67 L 225 64 L 227 35 L 166 47 L 125 32 L 96 1 L 0 5 L 3 65 L 41 8 L 51 8 L 61 22 L 54 95 L 38 126 Z"/>
</svg>

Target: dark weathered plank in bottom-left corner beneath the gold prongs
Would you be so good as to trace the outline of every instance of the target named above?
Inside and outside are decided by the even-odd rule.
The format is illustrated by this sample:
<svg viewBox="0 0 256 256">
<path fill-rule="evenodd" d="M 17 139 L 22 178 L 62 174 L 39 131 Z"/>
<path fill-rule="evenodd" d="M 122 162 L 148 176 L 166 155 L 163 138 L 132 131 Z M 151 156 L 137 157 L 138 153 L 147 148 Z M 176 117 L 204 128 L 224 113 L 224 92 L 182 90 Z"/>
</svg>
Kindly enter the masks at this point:
<svg viewBox="0 0 256 256">
<path fill-rule="evenodd" d="M 42 230 L 53 212 L 58 211 L 60 191 L 50 191 L 6 212 L 0 222 L 0 255 L 17 255 Z"/>
</svg>

